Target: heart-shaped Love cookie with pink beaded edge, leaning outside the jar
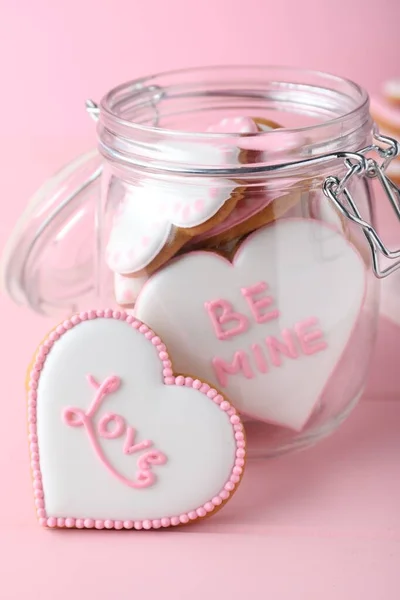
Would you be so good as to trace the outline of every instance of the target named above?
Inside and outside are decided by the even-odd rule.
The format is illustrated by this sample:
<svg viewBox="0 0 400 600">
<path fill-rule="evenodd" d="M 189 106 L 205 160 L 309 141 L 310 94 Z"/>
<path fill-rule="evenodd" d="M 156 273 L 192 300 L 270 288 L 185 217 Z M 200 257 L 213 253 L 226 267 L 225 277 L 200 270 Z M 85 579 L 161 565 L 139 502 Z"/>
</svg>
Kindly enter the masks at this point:
<svg viewBox="0 0 400 600">
<path fill-rule="evenodd" d="M 150 529 L 211 514 L 240 482 L 231 404 L 175 376 L 163 342 L 124 312 L 65 321 L 29 377 L 37 514 L 47 527 Z"/>
</svg>

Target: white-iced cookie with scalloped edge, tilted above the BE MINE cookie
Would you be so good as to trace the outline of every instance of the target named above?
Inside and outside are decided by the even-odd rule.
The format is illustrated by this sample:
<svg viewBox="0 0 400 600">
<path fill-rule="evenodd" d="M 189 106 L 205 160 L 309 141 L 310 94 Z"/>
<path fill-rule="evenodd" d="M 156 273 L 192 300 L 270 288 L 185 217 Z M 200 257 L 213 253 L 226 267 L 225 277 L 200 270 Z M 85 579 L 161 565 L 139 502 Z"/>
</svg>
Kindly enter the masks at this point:
<svg viewBox="0 0 400 600">
<path fill-rule="evenodd" d="M 240 150 L 232 146 L 173 143 L 156 150 L 178 166 L 232 166 Z M 223 221 L 242 197 L 230 179 L 188 177 L 155 182 L 145 180 L 126 194 L 112 225 L 107 264 L 121 275 L 152 273 L 174 256 L 190 238 Z"/>
</svg>

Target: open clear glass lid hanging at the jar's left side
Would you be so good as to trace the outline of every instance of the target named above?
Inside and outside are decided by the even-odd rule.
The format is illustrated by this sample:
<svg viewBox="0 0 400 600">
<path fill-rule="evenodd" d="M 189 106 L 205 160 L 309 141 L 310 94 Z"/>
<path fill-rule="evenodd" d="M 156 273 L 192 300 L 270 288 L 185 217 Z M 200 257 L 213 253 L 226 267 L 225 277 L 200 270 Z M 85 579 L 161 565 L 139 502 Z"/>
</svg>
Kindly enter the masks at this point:
<svg viewBox="0 0 400 600">
<path fill-rule="evenodd" d="M 51 177 L 33 196 L 5 247 L 3 289 L 46 316 L 96 297 L 96 207 L 101 156 L 92 150 Z"/>
</svg>

